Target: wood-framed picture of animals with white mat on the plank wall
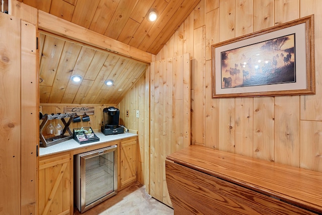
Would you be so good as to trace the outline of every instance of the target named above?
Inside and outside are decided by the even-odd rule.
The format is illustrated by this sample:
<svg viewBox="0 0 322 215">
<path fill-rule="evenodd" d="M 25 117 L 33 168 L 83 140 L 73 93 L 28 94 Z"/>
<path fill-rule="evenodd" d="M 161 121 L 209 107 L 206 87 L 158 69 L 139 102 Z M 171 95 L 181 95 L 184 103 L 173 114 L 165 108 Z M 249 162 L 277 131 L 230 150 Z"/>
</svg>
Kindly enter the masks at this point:
<svg viewBox="0 0 322 215">
<path fill-rule="evenodd" d="M 315 93 L 313 15 L 211 46 L 212 97 Z"/>
</svg>

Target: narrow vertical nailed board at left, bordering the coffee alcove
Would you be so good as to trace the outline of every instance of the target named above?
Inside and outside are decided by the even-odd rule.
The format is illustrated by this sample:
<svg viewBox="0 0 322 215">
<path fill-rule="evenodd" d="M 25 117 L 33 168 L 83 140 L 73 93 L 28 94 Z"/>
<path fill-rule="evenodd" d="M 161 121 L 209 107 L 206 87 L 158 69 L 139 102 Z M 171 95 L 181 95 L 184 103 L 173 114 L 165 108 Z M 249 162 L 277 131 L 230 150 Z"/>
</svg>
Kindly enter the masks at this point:
<svg viewBox="0 0 322 215">
<path fill-rule="evenodd" d="M 36 25 L 22 21 L 21 63 L 28 66 L 21 68 L 21 211 L 28 214 L 37 211 L 39 79 L 36 37 Z"/>
</svg>

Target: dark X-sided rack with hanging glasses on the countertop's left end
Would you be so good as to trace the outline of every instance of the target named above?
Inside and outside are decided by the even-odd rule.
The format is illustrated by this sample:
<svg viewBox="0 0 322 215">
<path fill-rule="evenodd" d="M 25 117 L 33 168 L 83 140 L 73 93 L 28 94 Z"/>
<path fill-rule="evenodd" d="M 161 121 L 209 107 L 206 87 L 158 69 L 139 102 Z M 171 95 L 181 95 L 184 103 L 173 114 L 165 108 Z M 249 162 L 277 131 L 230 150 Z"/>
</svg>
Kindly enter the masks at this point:
<svg viewBox="0 0 322 215">
<path fill-rule="evenodd" d="M 66 141 L 68 139 L 72 139 L 72 132 L 69 129 L 69 125 L 74 117 L 74 113 L 57 113 L 57 114 L 45 114 L 41 119 L 43 120 L 42 123 L 40 124 L 39 128 L 39 138 L 40 138 L 40 146 L 42 147 L 50 147 L 55 144 L 59 144 L 59 142 Z M 70 117 L 68 121 L 66 122 L 65 118 Z M 52 136 L 49 138 L 45 138 L 42 131 L 48 122 L 48 120 L 53 120 L 53 119 L 60 119 L 61 122 L 63 123 L 63 129 L 62 129 L 62 134 L 57 135 L 57 136 Z M 68 132 L 69 135 L 64 135 L 65 132 Z"/>
</svg>

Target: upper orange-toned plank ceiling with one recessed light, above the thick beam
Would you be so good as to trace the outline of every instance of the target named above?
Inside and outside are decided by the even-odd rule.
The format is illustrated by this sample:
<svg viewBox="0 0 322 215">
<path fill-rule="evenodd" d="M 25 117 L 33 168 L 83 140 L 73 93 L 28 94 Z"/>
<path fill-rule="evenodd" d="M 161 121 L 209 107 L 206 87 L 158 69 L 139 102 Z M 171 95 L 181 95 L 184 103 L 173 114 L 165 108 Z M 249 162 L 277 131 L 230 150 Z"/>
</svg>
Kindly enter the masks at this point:
<svg viewBox="0 0 322 215">
<path fill-rule="evenodd" d="M 200 0 L 19 0 L 140 50 L 157 54 Z M 154 9 L 158 16 L 149 22 Z"/>
</svg>

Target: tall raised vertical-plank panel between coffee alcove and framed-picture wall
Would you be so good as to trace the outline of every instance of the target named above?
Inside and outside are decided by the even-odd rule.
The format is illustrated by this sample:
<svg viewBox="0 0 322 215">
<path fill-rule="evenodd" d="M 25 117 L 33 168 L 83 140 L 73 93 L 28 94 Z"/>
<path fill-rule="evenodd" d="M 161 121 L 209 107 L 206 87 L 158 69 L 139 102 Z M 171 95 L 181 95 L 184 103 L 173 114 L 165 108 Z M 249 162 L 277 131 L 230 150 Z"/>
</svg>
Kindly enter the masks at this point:
<svg viewBox="0 0 322 215">
<path fill-rule="evenodd" d="M 190 145 L 189 54 L 152 62 L 149 78 L 149 151 L 146 149 L 144 156 L 149 157 L 150 169 L 149 175 L 145 173 L 144 177 L 149 179 L 149 193 L 171 204 L 166 184 L 165 159 L 172 152 Z"/>
</svg>

